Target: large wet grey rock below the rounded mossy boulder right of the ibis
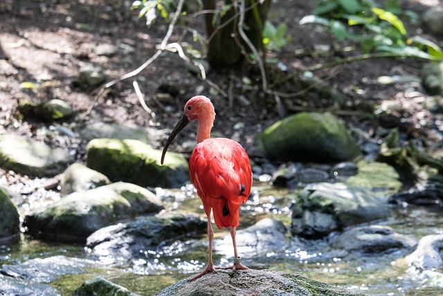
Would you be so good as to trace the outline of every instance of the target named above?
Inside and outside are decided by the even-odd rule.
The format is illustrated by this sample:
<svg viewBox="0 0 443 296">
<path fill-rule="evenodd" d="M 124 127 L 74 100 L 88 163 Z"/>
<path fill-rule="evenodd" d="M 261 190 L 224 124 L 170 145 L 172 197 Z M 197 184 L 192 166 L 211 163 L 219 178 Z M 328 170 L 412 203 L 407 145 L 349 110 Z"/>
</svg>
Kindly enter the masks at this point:
<svg viewBox="0 0 443 296">
<path fill-rule="evenodd" d="M 343 183 L 309 184 L 293 204 L 291 231 L 317 238 L 343 227 L 386 218 L 388 206 Z"/>
</svg>

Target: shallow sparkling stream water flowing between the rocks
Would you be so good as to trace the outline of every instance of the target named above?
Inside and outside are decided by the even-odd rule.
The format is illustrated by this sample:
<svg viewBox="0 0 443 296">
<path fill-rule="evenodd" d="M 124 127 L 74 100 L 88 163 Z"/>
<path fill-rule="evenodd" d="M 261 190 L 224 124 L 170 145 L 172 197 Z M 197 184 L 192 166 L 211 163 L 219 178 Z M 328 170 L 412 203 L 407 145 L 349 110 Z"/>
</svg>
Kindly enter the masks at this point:
<svg viewBox="0 0 443 296">
<path fill-rule="evenodd" d="M 264 217 L 276 218 L 289 229 L 291 223 L 290 205 L 297 190 L 275 189 L 266 182 L 256 182 L 253 198 L 244 204 L 241 211 L 239 229 L 253 225 Z M 192 186 L 178 191 L 156 189 L 165 202 L 167 209 L 197 211 L 204 215 L 199 198 Z M 48 198 L 49 197 L 49 198 Z M 21 211 L 32 209 L 39 203 L 57 200 L 51 192 L 35 192 L 16 200 Z M 16 198 L 17 199 L 17 198 Z M 428 234 L 442 234 L 442 207 L 395 207 L 392 216 L 386 220 L 371 224 L 387 225 L 399 234 L 411 236 L 417 240 Z M 228 234 L 226 230 L 215 229 L 215 238 Z M 336 234 L 335 234 L 336 235 Z M 423 279 L 408 271 L 404 260 L 404 251 L 363 256 L 345 254 L 329 248 L 329 241 L 334 234 L 322 240 L 302 240 L 287 234 L 287 242 L 281 250 L 273 250 L 264 256 L 248 258 L 244 256 L 249 268 L 269 268 L 295 272 L 311 279 L 350 288 L 368 295 L 439 295 L 437 288 L 422 288 Z M 253 250 L 250 250 L 251 252 Z M 217 265 L 228 265 L 230 255 L 216 252 L 214 261 Z M 241 252 L 248 252 L 243 249 Z M 156 250 L 141 251 L 140 256 L 125 259 L 114 256 L 96 256 L 83 245 L 66 245 L 32 240 L 22 234 L 21 241 L 14 245 L 0 246 L 1 265 L 24 265 L 32 259 L 58 258 L 66 256 L 81 259 L 81 272 L 69 272 L 60 268 L 57 277 L 46 279 L 44 283 L 59 290 L 61 295 L 71 295 L 83 281 L 95 276 L 102 276 L 116 284 L 141 295 L 152 295 L 170 286 L 174 282 L 189 277 L 204 268 L 207 260 L 207 239 L 205 236 L 187 238 L 170 246 Z M 56 259 L 57 260 L 57 259 Z M 34 268 L 46 268 L 42 263 L 35 263 Z M 440 294 L 442 295 L 442 294 Z"/>
</svg>

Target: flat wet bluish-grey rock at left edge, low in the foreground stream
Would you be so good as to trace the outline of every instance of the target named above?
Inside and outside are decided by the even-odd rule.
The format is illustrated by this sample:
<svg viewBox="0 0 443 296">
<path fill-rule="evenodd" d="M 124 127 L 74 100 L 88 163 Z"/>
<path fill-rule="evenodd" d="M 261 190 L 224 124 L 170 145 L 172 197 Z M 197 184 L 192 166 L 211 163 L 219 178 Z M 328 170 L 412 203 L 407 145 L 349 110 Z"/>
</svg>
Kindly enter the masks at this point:
<svg viewBox="0 0 443 296">
<path fill-rule="evenodd" d="M 66 256 L 35 258 L 15 265 L 3 264 L 1 274 L 37 283 L 49 283 L 62 275 L 85 272 L 92 263 Z M 1 289 L 1 288 L 0 288 Z"/>
</svg>

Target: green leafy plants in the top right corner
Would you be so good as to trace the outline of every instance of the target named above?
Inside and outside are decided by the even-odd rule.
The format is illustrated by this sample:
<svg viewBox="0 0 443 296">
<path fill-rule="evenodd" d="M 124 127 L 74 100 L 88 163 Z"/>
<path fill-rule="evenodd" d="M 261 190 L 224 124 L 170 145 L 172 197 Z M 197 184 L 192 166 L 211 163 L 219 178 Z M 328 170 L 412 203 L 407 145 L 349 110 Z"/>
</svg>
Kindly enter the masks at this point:
<svg viewBox="0 0 443 296">
<path fill-rule="evenodd" d="M 313 15 L 300 24 L 320 24 L 329 28 L 338 42 L 356 42 L 363 53 L 384 52 L 394 55 L 443 60 L 443 50 L 420 36 L 410 36 L 401 18 L 417 23 L 414 12 L 403 11 L 397 0 L 321 0 Z"/>
</svg>

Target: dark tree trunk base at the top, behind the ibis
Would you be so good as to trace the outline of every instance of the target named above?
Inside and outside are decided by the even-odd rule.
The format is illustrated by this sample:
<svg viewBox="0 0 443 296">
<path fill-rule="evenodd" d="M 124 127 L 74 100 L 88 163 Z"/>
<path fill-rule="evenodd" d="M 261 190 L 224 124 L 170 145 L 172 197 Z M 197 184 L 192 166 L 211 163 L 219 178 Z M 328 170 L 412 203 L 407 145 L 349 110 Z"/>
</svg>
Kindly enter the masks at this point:
<svg viewBox="0 0 443 296">
<path fill-rule="evenodd" d="M 271 6 L 271 0 L 264 0 L 262 4 L 258 0 L 240 0 L 246 1 L 246 12 L 244 16 L 243 30 L 246 36 L 258 53 L 264 56 L 263 28 L 266 21 L 266 15 Z M 233 67 L 240 65 L 244 61 L 244 51 L 251 53 L 249 46 L 242 40 L 238 32 L 239 6 L 241 3 L 237 0 L 226 0 L 225 4 L 232 7 L 223 17 L 217 17 L 213 23 L 213 14 L 206 14 L 206 31 L 208 37 L 212 37 L 208 44 L 208 62 L 213 67 Z M 248 9 L 250 6 L 253 8 Z M 204 9 L 215 10 L 215 0 L 205 0 Z M 228 24 L 225 23 L 229 21 Z M 224 25 L 217 28 L 219 25 Z"/>
</svg>

